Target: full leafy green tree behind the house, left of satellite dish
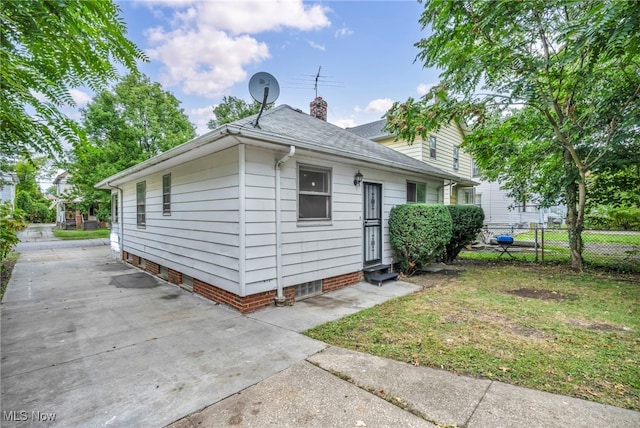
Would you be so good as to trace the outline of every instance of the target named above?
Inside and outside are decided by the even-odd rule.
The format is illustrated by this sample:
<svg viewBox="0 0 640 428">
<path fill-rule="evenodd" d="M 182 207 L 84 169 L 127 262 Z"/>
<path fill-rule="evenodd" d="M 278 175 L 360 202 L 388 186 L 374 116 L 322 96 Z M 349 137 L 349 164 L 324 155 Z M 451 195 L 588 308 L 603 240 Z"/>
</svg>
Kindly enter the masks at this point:
<svg viewBox="0 0 640 428">
<path fill-rule="evenodd" d="M 195 137 L 195 127 L 172 94 L 143 75 L 129 75 L 82 110 L 88 142 L 74 145 L 69 183 L 86 211 L 108 206 L 109 193 L 93 186 L 119 171 Z"/>
</svg>

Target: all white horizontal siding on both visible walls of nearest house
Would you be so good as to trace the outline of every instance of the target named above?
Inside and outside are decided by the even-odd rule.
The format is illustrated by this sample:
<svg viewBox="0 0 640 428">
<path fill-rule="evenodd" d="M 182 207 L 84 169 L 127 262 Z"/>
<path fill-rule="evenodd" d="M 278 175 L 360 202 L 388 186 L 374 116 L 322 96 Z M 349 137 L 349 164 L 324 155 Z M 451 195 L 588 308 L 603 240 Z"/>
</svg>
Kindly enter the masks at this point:
<svg viewBox="0 0 640 428">
<path fill-rule="evenodd" d="M 149 175 L 122 186 L 124 251 L 206 281 L 239 295 L 276 288 L 276 159 L 285 152 L 246 147 L 245 287 L 239 275 L 240 212 L 238 148 Z M 297 220 L 298 163 L 331 168 L 332 219 Z M 388 219 L 406 203 L 407 180 L 426 182 L 427 202 L 437 202 L 442 182 L 339 159 L 296 154 L 281 168 L 283 286 L 356 272 L 363 264 L 363 186 L 354 186 L 358 169 L 365 181 L 381 183 L 383 263 L 392 263 Z M 171 215 L 162 213 L 162 176 L 171 173 Z M 146 227 L 136 225 L 136 183 L 146 181 Z"/>
</svg>

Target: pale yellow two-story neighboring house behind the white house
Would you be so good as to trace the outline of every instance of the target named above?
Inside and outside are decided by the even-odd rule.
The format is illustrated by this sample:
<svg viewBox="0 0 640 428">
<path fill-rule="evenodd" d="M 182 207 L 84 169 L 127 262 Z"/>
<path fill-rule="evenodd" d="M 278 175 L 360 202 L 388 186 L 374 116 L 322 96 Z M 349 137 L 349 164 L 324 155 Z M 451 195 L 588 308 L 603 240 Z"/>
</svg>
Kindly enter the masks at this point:
<svg viewBox="0 0 640 428">
<path fill-rule="evenodd" d="M 445 182 L 443 198 L 436 202 L 446 205 L 475 203 L 474 186 L 478 183 L 472 178 L 471 156 L 460 149 L 464 135 L 460 126 L 444 126 L 431 133 L 427 140 L 416 140 L 413 144 L 408 144 L 404 140 L 396 140 L 394 135 L 385 131 L 383 128 L 386 123 L 386 119 L 381 119 L 347 128 L 347 131 L 455 175 L 456 180 Z M 419 184 L 420 186 L 422 185 Z M 416 202 L 427 201 L 418 198 Z"/>
</svg>

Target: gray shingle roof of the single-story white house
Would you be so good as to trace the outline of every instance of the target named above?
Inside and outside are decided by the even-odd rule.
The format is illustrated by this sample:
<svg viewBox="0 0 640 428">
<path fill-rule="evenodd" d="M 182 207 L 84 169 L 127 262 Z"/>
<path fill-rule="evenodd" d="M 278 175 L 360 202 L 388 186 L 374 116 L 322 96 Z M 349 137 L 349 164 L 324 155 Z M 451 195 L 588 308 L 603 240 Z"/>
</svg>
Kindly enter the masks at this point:
<svg viewBox="0 0 640 428">
<path fill-rule="evenodd" d="M 253 126 L 256 117 L 257 115 L 240 119 L 228 124 L 228 126 L 239 131 L 248 129 L 252 133 L 263 135 L 265 139 L 268 139 L 270 135 L 290 139 L 295 141 L 292 144 L 301 148 L 340 154 L 347 158 L 364 159 L 380 165 L 396 166 L 446 180 L 457 181 L 460 179 L 382 144 L 293 109 L 286 104 L 265 111 L 259 120 L 260 128 Z"/>
</svg>

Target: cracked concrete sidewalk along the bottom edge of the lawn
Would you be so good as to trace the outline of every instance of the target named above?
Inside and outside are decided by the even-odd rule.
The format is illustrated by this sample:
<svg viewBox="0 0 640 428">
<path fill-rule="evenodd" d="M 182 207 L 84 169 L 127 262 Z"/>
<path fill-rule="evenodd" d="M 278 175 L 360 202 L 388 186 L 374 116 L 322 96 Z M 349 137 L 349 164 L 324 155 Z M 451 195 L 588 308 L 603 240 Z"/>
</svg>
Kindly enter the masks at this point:
<svg viewBox="0 0 640 428">
<path fill-rule="evenodd" d="M 170 425 L 232 426 L 631 428 L 640 413 L 329 347 Z"/>
</svg>

